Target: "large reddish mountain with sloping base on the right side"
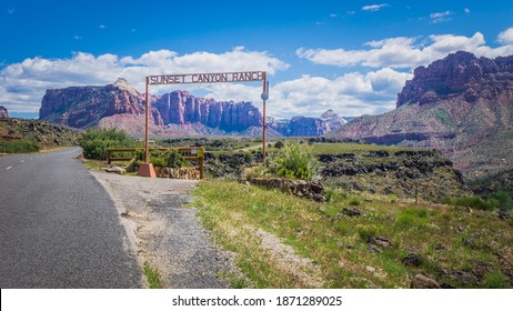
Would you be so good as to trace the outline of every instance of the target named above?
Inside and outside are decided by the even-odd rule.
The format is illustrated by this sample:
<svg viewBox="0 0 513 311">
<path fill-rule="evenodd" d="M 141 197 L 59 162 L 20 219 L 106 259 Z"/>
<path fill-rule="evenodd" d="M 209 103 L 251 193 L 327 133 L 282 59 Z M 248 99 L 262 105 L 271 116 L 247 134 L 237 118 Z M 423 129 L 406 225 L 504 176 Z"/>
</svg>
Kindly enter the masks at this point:
<svg viewBox="0 0 513 311">
<path fill-rule="evenodd" d="M 513 56 L 456 52 L 414 70 L 396 109 L 326 137 L 436 148 L 467 178 L 513 167 Z"/>
</svg>

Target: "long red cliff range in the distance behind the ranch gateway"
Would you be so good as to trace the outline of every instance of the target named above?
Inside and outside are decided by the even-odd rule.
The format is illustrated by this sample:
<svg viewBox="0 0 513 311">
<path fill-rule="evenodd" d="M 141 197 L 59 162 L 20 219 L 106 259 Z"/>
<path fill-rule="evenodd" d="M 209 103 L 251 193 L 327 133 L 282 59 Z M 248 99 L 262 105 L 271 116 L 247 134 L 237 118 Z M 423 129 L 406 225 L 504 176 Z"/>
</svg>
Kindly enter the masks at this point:
<svg viewBox="0 0 513 311">
<path fill-rule="evenodd" d="M 262 132 L 262 114 L 251 102 L 215 101 L 172 91 L 150 97 L 152 136 L 221 136 Z M 73 128 L 115 127 L 132 134 L 144 132 L 144 96 L 127 80 L 104 87 L 47 90 L 41 120 Z M 269 118 L 268 136 L 321 136 L 346 121 L 332 110 L 321 118 Z"/>
</svg>

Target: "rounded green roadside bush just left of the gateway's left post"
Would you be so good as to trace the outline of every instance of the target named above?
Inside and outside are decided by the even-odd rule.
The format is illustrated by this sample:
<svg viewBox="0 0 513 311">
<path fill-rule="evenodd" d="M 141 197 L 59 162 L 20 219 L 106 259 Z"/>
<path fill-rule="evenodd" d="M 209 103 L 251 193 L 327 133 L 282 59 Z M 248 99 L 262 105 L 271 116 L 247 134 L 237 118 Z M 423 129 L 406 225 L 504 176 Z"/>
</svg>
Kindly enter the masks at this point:
<svg viewBox="0 0 513 311">
<path fill-rule="evenodd" d="M 107 160 L 107 149 L 131 148 L 137 142 L 127 132 L 112 129 L 87 129 L 79 139 L 83 156 L 88 159 Z"/>
</svg>

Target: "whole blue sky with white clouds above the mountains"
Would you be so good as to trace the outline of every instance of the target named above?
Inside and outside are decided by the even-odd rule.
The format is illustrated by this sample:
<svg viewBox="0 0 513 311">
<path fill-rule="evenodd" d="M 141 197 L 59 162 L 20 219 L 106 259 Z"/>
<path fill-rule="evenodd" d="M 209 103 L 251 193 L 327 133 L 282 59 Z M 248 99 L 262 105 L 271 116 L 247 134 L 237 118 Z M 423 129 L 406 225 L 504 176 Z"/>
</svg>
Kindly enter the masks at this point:
<svg viewBox="0 0 513 311">
<path fill-rule="evenodd" d="M 376 114 L 419 66 L 513 54 L 512 17 L 505 0 L 0 0 L 0 106 L 38 112 L 47 89 L 118 77 L 143 92 L 148 74 L 265 70 L 270 116 Z M 150 92 L 178 88 L 261 103 L 259 83 Z"/>
</svg>

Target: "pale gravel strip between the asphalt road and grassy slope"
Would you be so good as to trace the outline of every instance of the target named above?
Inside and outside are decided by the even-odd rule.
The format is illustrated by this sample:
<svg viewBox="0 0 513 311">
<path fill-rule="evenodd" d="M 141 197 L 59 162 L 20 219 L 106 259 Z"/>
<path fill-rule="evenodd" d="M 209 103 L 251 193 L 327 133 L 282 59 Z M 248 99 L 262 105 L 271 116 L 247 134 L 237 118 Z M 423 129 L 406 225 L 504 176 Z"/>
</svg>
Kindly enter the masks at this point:
<svg viewBox="0 0 513 311">
<path fill-rule="evenodd" d="M 157 268 L 165 288 L 230 287 L 218 275 L 237 270 L 233 255 L 212 245 L 195 208 L 183 207 L 197 181 L 91 173 L 114 201 L 141 267 Z"/>
</svg>

